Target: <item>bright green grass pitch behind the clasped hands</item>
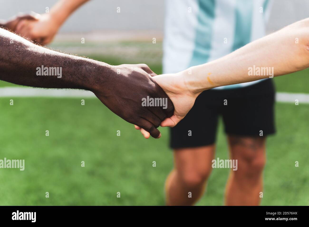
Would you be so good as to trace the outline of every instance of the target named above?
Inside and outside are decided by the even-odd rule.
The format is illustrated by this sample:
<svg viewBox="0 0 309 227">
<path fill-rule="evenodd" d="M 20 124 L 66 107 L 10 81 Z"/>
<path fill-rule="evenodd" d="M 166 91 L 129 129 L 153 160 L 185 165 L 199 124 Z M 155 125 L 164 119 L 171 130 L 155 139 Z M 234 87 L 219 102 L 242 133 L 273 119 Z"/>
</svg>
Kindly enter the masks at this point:
<svg viewBox="0 0 309 227">
<path fill-rule="evenodd" d="M 149 66 L 161 73 L 160 64 Z M 278 91 L 309 93 L 308 71 L 274 80 Z M 0 205 L 164 205 L 164 181 L 173 167 L 167 128 L 160 128 L 162 138 L 146 140 L 97 99 L 86 98 L 84 106 L 80 98 L 20 97 L 13 106 L 10 99 L 0 98 L 0 159 L 25 159 L 25 170 L 0 169 Z M 276 104 L 262 205 L 309 205 L 308 112 L 306 104 Z M 222 122 L 216 157 L 228 158 Z M 198 205 L 223 205 L 228 172 L 213 170 Z"/>
</svg>

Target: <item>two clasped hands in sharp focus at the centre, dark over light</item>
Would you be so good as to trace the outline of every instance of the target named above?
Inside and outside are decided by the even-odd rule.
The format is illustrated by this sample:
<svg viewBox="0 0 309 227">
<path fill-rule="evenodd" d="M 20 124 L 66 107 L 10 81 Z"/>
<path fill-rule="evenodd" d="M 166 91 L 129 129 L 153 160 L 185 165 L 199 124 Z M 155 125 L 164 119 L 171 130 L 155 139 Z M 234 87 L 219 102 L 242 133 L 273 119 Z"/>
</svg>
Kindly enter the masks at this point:
<svg viewBox="0 0 309 227">
<path fill-rule="evenodd" d="M 174 127 L 193 107 L 198 92 L 188 89 L 184 72 L 156 75 L 146 64 L 111 66 L 112 80 L 90 89 L 112 112 L 135 125 L 145 138 L 160 138 L 159 126 Z M 108 86 L 109 92 L 101 89 Z M 167 105 L 142 105 L 146 99 Z"/>
</svg>

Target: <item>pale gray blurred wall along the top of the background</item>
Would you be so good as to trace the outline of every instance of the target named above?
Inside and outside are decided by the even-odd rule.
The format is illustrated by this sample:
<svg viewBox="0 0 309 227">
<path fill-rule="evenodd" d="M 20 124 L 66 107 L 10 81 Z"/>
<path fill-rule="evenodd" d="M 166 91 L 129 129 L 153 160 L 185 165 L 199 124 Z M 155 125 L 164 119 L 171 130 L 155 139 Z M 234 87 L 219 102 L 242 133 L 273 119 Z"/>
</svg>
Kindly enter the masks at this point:
<svg viewBox="0 0 309 227">
<path fill-rule="evenodd" d="M 179 0 L 181 1 L 181 0 Z M 57 0 L 0 0 L 0 18 L 33 10 L 44 13 Z M 121 13 L 116 8 L 121 7 Z M 308 0 L 274 0 L 268 31 L 309 17 Z M 104 30 L 163 31 L 164 0 L 91 0 L 77 10 L 60 32 Z"/>
</svg>

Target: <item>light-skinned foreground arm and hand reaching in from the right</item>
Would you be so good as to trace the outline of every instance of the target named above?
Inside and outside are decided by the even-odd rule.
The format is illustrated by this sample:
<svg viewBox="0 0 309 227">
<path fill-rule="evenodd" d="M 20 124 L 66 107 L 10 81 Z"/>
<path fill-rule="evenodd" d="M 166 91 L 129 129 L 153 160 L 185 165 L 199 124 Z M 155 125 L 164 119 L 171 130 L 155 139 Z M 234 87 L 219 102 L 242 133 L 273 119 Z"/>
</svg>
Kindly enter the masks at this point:
<svg viewBox="0 0 309 227">
<path fill-rule="evenodd" d="M 161 126 L 173 127 L 180 122 L 202 91 L 281 76 L 308 67 L 309 18 L 248 43 L 209 63 L 175 74 L 154 76 L 153 79 L 171 98 L 175 107 L 174 115 L 165 119 Z M 260 70 L 260 75 L 255 73 L 256 70 Z M 135 128 L 140 129 L 145 138 L 149 137 L 149 133 L 140 127 Z"/>
</svg>

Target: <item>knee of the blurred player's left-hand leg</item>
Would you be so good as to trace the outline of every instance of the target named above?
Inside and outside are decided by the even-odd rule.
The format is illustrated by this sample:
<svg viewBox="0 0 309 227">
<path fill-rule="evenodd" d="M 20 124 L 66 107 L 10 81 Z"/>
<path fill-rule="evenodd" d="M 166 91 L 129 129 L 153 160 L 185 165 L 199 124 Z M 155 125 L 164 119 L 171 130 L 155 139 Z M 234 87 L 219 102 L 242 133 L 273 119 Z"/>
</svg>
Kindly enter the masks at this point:
<svg viewBox="0 0 309 227">
<path fill-rule="evenodd" d="M 205 184 L 211 169 L 203 171 L 186 171 L 180 175 L 180 180 L 186 188 L 196 188 Z"/>
</svg>

